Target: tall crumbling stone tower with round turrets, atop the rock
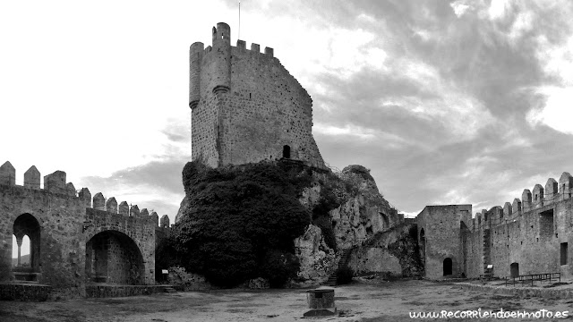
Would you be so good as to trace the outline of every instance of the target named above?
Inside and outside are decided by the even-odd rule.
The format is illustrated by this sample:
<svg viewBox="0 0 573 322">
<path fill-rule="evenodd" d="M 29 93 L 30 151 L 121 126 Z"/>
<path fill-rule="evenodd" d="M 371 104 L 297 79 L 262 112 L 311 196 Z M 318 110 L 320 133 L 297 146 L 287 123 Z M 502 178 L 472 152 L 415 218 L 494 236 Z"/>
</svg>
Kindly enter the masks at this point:
<svg viewBox="0 0 573 322">
<path fill-rule="evenodd" d="M 312 137 L 312 98 L 265 47 L 231 46 L 231 28 L 219 22 L 212 45 L 190 48 L 189 107 L 192 159 L 240 165 L 289 158 L 324 168 Z"/>
</svg>

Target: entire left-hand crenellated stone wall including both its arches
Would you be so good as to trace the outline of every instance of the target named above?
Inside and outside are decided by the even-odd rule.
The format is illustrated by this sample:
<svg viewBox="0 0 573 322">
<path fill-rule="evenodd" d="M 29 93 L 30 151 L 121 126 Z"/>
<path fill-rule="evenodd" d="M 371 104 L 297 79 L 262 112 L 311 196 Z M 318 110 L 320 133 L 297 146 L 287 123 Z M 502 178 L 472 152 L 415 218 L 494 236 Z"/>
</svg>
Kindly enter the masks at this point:
<svg viewBox="0 0 573 322">
<path fill-rule="evenodd" d="M 106 202 L 101 193 L 92 208 L 90 191 L 76 193 L 62 171 L 45 176 L 43 189 L 35 166 L 23 186 L 14 178 L 9 162 L 0 166 L 0 283 L 48 284 L 78 295 L 94 283 L 155 283 L 155 212 L 141 216 L 133 206 L 133 213 L 118 214 L 115 198 Z M 13 266 L 13 236 L 21 245 L 25 235 L 30 265 Z"/>
</svg>

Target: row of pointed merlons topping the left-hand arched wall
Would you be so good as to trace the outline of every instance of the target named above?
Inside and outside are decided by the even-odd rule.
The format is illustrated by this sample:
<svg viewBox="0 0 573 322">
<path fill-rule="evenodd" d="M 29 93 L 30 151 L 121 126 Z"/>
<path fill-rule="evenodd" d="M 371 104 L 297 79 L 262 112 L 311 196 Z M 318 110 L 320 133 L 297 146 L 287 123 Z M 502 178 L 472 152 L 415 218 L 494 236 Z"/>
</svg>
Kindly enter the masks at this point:
<svg viewBox="0 0 573 322">
<path fill-rule="evenodd" d="M 40 177 L 38 168 L 32 165 L 30 169 L 24 173 L 24 184 L 17 185 L 15 183 L 16 170 L 13 165 L 9 161 L 6 161 L 4 165 L 0 166 L 0 186 L 9 186 L 10 189 L 42 191 L 44 193 L 57 195 L 58 197 L 77 199 L 85 208 L 93 208 L 128 217 L 149 218 L 150 221 L 154 221 L 155 225 L 159 226 L 158 214 L 155 211 L 150 213 L 147 208 L 140 210 L 139 206 L 128 204 L 127 201 L 122 201 L 118 205 L 115 197 L 106 199 L 101 192 L 96 193 L 92 199 L 88 188 L 81 188 L 81 190 L 76 191 L 72 182 L 66 182 L 66 174 L 64 171 L 58 170 L 53 174 L 45 175 L 43 188 L 40 187 Z"/>
</svg>

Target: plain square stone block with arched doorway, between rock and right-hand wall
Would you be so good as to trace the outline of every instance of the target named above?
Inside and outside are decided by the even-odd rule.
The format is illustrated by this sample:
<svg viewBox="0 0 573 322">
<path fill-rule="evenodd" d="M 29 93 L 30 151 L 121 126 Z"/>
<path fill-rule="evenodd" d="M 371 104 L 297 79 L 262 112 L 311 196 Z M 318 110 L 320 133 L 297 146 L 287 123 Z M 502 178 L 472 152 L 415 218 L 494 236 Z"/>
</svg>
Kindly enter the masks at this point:
<svg viewBox="0 0 573 322">
<path fill-rule="evenodd" d="M 427 206 L 417 216 L 418 244 L 423 247 L 421 253 L 426 277 L 443 277 L 446 258 L 452 261 L 451 275 L 461 276 L 464 273 L 460 226 L 462 223 L 467 226 L 471 222 L 471 213 L 471 205 Z M 421 235 L 425 241 L 421 241 Z"/>
</svg>

